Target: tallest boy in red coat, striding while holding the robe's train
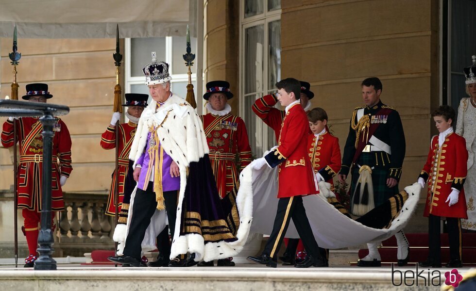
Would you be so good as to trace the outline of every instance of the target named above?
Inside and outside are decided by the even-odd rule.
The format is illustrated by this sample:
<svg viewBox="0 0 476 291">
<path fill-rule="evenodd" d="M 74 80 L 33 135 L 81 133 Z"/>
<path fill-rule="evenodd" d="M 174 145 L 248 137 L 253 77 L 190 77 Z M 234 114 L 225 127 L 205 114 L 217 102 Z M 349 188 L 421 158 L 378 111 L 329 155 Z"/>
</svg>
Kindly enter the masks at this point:
<svg viewBox="0 0 476 291">
<path fill-rule="evenodd" d="M 314 239 L 312 229 L 303 205 L 303 196 L 318 194 L 317 180 L 307 156 L 307 116 L 299 104 L 301 84 L 298 80 L 288 78 L 276 83 L 279 89 L 277 98 L 286 107 L 285 118 L 278 138 L 278 146 L 264 158 L 252 162 L 252 168 L 263 166 L 279 167 L 278 170 L 278 208 L 274 219 L 272 233 L 263 253 L 258 257 L 248 257 L 252 262 L 276 267 L 276 255 L 284 239 L 289 221 L 294 225 L 303 240 L 307 257 L 296 263 L 297 268 L 325 265 Z"/>
</svg>

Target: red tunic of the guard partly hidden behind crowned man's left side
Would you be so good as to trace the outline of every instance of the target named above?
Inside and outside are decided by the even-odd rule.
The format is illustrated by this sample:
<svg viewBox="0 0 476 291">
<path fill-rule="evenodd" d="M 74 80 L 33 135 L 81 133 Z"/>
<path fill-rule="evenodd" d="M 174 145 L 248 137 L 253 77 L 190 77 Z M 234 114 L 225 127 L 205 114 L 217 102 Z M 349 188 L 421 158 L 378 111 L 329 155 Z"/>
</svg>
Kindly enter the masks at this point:
<svg viewBox="0 0 476 291">
<path fill-rule="evenodd" d="M 127 177 L 129 169 L 129 153 L 131 152 L 132 141 L 136 134 L 137 124 L 134 122 L 127 122 L 119 124 L 119 212 L 122 209 L 122 201 L 124 199 L 124 182 Z M 106 131 L 101 135 L 101 147 L 103 149 L 116 148 L 116 129 L 108 126 Z M 109 197 L 107 199 L 106 214 L 114 216 L 116 208 L 114 205 L 114 195 L 116 193 L 116 171 L 112 174 L 111 187 L 109 190 Z"/>
</svg>

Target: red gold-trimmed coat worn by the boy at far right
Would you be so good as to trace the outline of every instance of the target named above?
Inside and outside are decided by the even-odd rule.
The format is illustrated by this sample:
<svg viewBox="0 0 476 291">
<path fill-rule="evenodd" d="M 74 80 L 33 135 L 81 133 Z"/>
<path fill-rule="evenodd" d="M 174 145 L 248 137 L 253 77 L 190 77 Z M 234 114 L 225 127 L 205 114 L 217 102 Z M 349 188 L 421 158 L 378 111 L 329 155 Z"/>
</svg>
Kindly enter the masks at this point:
<svg viewBox="0 0 476 291">
<path fill-rule="evenodd" d="M 463 183 L 466 179 L 468 151 L 463 137 L 456 133 L 446 136 L 442 147 L 438 135 L 431 140 L 428 158 L 420 174 L 428 182 L 424 216 L 468 218 Z M 448 206 L 446 198 L 452 189 L 459 190 L 458 202 Z"/>
</svg>

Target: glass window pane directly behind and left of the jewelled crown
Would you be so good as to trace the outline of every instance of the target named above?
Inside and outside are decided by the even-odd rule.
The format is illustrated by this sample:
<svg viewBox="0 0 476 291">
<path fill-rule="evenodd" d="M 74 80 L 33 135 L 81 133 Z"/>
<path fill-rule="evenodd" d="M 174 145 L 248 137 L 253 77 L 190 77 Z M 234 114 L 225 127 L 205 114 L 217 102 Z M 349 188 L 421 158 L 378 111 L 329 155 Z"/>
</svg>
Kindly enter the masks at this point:
<svg viewBox="0 0 476 291">
<path fill-rule="evenodd" d="M 165 37 L 131 38 L 131 77 L 144 76 L 142 69 L 152 61 L 153 51 L 158 61 L 165 61 Z"/>
</svg>

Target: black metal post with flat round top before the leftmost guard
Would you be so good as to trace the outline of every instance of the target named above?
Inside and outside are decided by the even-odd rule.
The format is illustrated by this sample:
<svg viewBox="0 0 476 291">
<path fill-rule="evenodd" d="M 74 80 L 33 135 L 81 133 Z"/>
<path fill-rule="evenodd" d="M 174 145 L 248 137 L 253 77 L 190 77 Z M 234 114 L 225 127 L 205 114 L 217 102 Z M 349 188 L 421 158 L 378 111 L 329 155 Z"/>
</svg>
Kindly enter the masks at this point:
<svg viewBox="0 0 476 291">
<path fill-rule="evenodd" d="M 43 125 L 43 174 L 41 195 L 41 228 L 37 249 L 39 258 L 34 262 L 34 270 L 56 270 L 53 254 L 53 234 L 51 232 L 51 149 L 53 142 L 54 116 L 66 115 L 69 107 L 64 105 L 25 102 L 17 100 L 0 100 L 0 116 L 40 117 Z"/>
</svg>

